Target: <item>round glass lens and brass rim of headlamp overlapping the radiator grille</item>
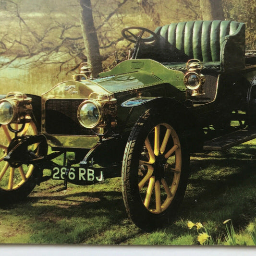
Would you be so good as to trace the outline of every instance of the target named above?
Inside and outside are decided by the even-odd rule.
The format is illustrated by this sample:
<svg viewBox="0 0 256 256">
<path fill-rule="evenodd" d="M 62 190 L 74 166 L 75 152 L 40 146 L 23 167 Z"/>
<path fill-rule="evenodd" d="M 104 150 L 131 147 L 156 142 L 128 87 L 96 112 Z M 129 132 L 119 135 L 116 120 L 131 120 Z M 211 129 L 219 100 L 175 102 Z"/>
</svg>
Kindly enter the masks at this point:
<svg viewBox="0 0 256 256">
<path fill-rule="evenodd" d="M 85 128 L 95 128 L 102 121 L 102 107 L 98 101 L 85 100 L 78 107 L 77 118 Z"/>
</svg>

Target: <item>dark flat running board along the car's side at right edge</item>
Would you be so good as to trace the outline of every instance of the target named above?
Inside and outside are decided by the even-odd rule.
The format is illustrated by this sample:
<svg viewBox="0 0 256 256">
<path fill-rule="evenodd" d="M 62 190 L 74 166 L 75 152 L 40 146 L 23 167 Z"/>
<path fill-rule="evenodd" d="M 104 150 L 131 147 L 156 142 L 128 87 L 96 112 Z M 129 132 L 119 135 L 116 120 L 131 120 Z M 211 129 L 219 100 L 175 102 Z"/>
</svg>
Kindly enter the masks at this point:
<svg viewBox="0 0 256 256">
<path fill-rule="evenodd" d="M 212 140 L 208 140 L 204 144 L 204 150 L 221 151 L 232 146 L 242 144 L 246 141 L 256 138 L 256 130 L 238 130 L 230 134 L 226 134 Z"/>
</svg>

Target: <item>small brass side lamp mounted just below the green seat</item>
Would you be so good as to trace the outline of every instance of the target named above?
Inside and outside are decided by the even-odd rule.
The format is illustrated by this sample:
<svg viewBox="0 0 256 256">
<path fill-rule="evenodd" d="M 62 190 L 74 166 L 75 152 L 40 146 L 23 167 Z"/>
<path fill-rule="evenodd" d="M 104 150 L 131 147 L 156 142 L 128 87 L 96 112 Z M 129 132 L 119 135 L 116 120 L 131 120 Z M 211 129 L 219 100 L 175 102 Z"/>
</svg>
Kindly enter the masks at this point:
<svg viewBox="0 0 256 256">
<path fill-rule="evenodd" d="M 205 76 L 201 74 L 203 64 L 201 61 L 192 59 L 186 64 L 187 73 L 183 81 L 187 89 L 192 90 L 191 96 L 205 95 L 203 85 L 205 83 Z"/>
</svg>

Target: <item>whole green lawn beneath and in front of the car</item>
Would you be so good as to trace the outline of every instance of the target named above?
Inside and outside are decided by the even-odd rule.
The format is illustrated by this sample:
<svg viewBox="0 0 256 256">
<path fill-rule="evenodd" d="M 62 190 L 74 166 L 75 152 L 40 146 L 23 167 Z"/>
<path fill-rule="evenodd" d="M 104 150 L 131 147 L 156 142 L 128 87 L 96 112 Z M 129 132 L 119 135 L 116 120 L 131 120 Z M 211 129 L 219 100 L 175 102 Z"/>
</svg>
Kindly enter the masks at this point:
<svg viewBox="0 0 256 256">
<path fill-rule="evenodd" d="M 127 217 L 121 178 L 90 186 L 49 180 L 22 203 L 0 208 L 0 243 L 32 244 L 199 244 L 189 220 L 201 222 L 210 244 L 255 245 L 256 140 L 225 152 L 191 157 L 191 176 L 177 219 L 146 233 Z M 226 219 L 231 222 L 223 224 Z M 233 231 L 232 231 L 233 227 Z M 199 230 L 199 232 L 201 232 Z M 204 232 L 204 230 L 202 231 Z"/>
</svg>

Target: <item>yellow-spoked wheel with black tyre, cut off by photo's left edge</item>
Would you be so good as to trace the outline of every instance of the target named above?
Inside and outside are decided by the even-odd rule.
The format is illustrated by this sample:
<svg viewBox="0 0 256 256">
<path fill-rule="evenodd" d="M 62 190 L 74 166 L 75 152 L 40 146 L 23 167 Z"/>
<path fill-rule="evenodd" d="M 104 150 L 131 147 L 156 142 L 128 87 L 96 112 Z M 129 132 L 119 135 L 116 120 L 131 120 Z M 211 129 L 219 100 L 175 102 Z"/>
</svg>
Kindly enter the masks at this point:
<svg viewBox="0 0 256 256">
<path fill-rule="evenodd" d="M 12 124 L 12 129 L 18 130 L 21 126 L 21 124 Z M 24 125 L 24 129 L 18 133 L 18 136 L 36 134 L 37 127 L 31 121 Z M 0 126 L 0 203 L 21 200 L 36 186 L 35 167 L 33 165 L 21 165 L 14 168 L 3 159 L 13 137 L 14 133 L 10 132 L 7 125 Z M 35 151 L 36 154 L 39 152 L 38 144 L 30 145 L 29 149 Z"/>
</svg>

